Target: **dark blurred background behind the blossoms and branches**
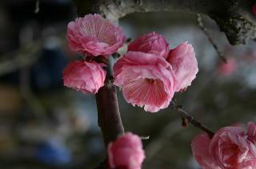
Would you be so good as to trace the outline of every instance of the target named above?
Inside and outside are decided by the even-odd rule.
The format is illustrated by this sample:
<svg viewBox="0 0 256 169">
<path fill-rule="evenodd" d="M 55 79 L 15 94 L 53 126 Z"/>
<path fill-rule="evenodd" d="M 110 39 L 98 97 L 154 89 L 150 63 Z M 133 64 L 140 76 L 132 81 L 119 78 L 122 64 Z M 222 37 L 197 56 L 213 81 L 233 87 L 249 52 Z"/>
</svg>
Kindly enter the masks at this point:
<svg viewBox="0 0 256 169">
<path fill-rule="evenodd" d="M 92 168 L 105 158 L 94 96 L 62 85 L 67 62 L 82 58 L 66 45 L 66 25 L 74 18 L 70 0 L 0 2 L 0 168 Z M 175 99 L 197 120 L 214 131 L 255 121 L 255 42 L 230 46 L 210 18 L 202 20 L 226 65 L 195 14 L 130 14 L 119 24 L 127 37 L 157 31 L 170 48 L 184 41 L 194 46 L 198 76 Z M 120 91 L 118 99 L 126 131 L 150 136 L 143 140 L 143 168 L 200 168 L 190 142 L 202 131 L 182 128 L 170 108 L 148 113 L 127 104 Z"/>
</svg>

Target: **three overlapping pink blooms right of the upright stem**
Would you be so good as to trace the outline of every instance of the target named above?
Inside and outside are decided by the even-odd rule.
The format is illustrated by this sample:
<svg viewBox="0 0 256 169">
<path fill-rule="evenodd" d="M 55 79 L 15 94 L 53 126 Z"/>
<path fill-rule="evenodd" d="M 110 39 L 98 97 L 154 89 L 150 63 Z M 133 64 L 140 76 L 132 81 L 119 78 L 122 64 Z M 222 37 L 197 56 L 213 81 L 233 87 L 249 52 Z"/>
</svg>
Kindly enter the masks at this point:
<svg viewBox="0 0 256 169">
<path fill-rule="evenodd" d="M 114 65 L 114 85 L 122 88 L 128 103 L 158 112 L 168 107 L 174 92 L 191 85 L 197 73 L 192 45 L 185 42 L 169 49 L 166 38 L 153 32 L 128 45 Z"/>
</svg>

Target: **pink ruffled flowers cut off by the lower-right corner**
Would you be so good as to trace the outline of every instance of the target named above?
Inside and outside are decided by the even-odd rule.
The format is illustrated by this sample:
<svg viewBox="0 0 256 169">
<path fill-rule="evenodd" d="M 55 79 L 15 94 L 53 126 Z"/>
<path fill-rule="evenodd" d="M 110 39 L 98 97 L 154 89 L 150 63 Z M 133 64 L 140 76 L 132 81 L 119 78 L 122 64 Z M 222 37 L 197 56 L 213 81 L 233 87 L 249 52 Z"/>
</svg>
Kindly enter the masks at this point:
<svg viewBox="0 0 256 169">
<path fill-rule="evenodd" d="M 203 169 L 254 169 L 256 168 L 256 124 L 221 128 L 214 137 L 206 134 L 192 141 L 195 159 Z"/>
</svg>

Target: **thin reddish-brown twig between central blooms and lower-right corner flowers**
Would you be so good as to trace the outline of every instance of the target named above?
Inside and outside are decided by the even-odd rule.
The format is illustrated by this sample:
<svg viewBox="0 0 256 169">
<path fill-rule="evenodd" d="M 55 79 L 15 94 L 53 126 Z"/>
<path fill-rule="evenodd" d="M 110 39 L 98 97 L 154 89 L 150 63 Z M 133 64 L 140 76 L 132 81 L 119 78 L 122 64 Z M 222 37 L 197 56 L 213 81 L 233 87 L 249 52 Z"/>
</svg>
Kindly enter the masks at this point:
<svg viewBox="0 0 256 169">
<path fill-rule="evenodd" d="M 190 122 L 190 124 L 193 124 L 194 127 L 196 128 L 200 128 L 201 130 L 203 130 L 204 132 L 206 132 L 210 138 L 212 138 L 214 136 L 214 132 L 212 132 L 209 128 L 207 128 L 204 124 L 201 124 L 198 120 L 195 120 L 193 116 L 190 116 L 190 114 L 188 112 L 186 112 L 185 110 L 183 110 L 181 108 L 181 106 L 175 104 L 174 101 L 170 102 L 170 108 L 172 108 L 173 110 L 175 110 L 176 112 L 178 112 L 180 114 L 180 116 L 182 116 L 182 120 L 187 120 L 188 122 Z M 182 122 L 183 123 L 183 122 Z"/>
</svg>

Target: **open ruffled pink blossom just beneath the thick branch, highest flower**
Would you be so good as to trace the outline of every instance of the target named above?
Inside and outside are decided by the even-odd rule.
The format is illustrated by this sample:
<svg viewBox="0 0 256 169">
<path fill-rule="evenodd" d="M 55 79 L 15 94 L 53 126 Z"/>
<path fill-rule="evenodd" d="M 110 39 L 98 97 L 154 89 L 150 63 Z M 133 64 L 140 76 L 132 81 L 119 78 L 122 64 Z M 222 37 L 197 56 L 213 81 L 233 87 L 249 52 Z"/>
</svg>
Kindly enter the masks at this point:
<svg viewBox="0 0 256 169">
<path fill-rule="evenodd" d="M 126 41 L 122 28 L 99 14 L 87 14 L 70 22 L 66 38 L 74 51 L 95 57 L 116 52 Z"/>
</svg>

